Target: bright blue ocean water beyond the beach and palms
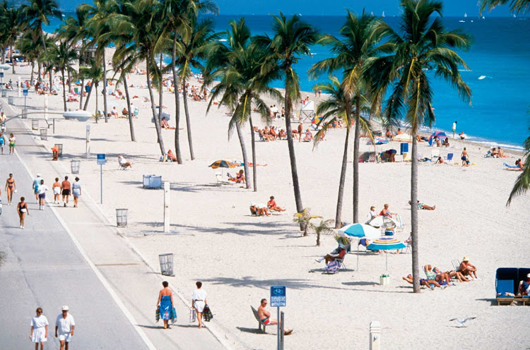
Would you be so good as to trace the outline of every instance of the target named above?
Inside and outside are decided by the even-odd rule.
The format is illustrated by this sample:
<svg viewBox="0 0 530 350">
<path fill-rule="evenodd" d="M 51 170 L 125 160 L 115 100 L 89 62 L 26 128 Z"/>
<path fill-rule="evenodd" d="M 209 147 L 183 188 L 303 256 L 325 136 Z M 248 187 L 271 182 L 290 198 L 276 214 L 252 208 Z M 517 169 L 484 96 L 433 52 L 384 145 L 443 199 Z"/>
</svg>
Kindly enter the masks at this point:
<svg viewBox="0 0 530 350">
<path fill-rule="evenodd" d="M 68 16 L 68 14 L 66 14 Z M 225 31 L 228 22 L 241 16 L 215 16 L 216 30 Z M 253 35 L 271 35 L 270 16 L 245 16 Z M 303 16 L 322 33 L 338 35 L 343 16 Z M 386 17 L 391 27 L 399 27 L 398 17 Z M 460 20 L 465 20 L 460 22 Z M 45 30 L 59 26 L 54 20 Z M 460 52 L 470 71 L 461 71 L 462 78 L 473 90 L 472 105 L 461 101 L 456 91 L 432 76 L 433 107 L 436 123 L 432 130 L 449 131 L 458 121 L 457 131 L 464 131 L 469 140 L 490 145 L 522 149 L 530 126 L 530 18 L 444 18 L 449 29 L 461 29 L 473 36 L 473 46 Z M 312 57 L 303 57 L 295 65 L 304 91 L 312 91 L 317 80 L 310 80 L 307 71 L 312 64 L 330 56 L 326 47 L 312 47 Z M 337 73 L 338 74 L 338 73 Z M 318 81 L 325 81 L 326 76 Z M 282 87 L 276 82 L 275 87 Z"/>
</svg>

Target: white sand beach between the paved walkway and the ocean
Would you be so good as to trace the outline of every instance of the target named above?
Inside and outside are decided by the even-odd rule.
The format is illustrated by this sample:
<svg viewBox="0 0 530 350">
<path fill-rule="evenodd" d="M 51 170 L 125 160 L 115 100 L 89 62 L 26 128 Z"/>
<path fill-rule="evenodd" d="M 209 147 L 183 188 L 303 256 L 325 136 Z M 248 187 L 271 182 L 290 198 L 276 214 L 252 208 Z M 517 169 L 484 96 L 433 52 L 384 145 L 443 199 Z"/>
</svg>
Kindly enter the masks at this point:
<svg viewBox="0 0 530 350">
<path fill-rule="evenodd" d="M 30 67 L 18 66 L 16 70 L 15 76 L 11 71 L 6 72 L 4 81 L 11 78 L 15 82 L 18 76 L 29 79 Z M 128 82 L 145 85 L 145 79 L 146 76 L 131 74 Z M 190 85 L 199 86 L 199 83 L 192 80 Z M 269 298 L 269 288 L 273 285 L 287 286 L 287 306 L 283 311 L 286 326 L 294 332 L 285 337 L 285 349 L 367 349 L 372 320 L 381 322 L 382 349 L 527 349 L 530 346 L 526 339 L 530 309 L 497 306 L 495 301 L 498 267 L 530 267 L 530 250 L 526 248 L 530 219 L 524 214 L 530 207 L 530 196 L 522 195 L 510 207 L 505 206 L 519 172 L 505 170 L 502 163 L 514 164 L 515 157 L 520 155 L 485 159 L 487 147 L 449 139 L 451 147 L 443 147 L 441 154 L 454 153 L 454 162 L 459 164 L 420 163 L 419 199 L 436 205 L 434 211 L 419 212 L 420 264 L 449 270 L 451 260 L 469 255 L 471 263 L 478 267 L 480 279 L 457 282 L 444 290 L 423 289 L 421 294 L 413 294 L 411 284 L 401 279 L 412 272 L 410 252 L 389 254 L 391 283 L 387 286 L 379 285 L 379 276 L 385 272 L 384 254 L 366 253 L 364 248 L 360 252 L 359 271 L 356 271 L 357 254 L 353 249 L 346 255 L 346 270 L 330 275 L 310 273 L 324 267 L 324 263 L 314 259 L 334 250 L 336 241 L 333 236 L 324 236 L 322 245 L 317 247 L 314 234 L 302 237 L 293 223 L 295 201 L 285 140 L 257 142 L 257 163 L 263 164 L 257 169 L 257 192 L 239 184 L 218 185 L 215 174 L 220 170 L 210 169 L 208 165 L 218 159 L 242 159 L 237 135 L 228 138 L 230 117 L 225 115 L 224 107 L 212 107 L 206 115 L 206 102 L 189 101 L 196 156 L 191 161 L 181 99 L 184 164 L 163 163 L 159 162 L 151 105 L 143 102 L 148 90 L 131 87 L 129 91 L 131 96 L 139 96 L 133 101 L 140 109 L 139 117 L 134 119 L 136 143 L 130 141 L 127 119 L 110 119 L 109 123 L 102 119 L 99 123 L 93 119 L 87 122 L 62 119 L 56 121 L 55 133 L 49 128 L 48 140 L 42 141 L 47 147 L 47 157 L 51 159 L 51 147 L 61 143 L 64 157 L 59 163 L 64 169 L 69 169 L 71 159 L 81 160 L 79 177 L 83 191 L 88 194 L 81 199 L 83 205 L 86 200 L 99 203 L 100 167 L 95 154 L 107 155 L 103 167 L 102 212 L 115 222 L 116 208 L 129 209 L 129 225 L 117 231 L 152 267 L 158 268 L 158 254 L 174 254 L 175 277 L 167 280 L 179 294 L 190 299 L 194 283 L 198 280 L 204 283 L 214 314 L 211 322 L 233 349 L 276 347 L 276 327 L 267 327 L 267 334 L 257 332 L 257 320 L 249 307 L 257 308 L 261 298 Z M 16 91 L 9 95 L 16 96 Z M 314 94 L 302 95 L 314 100 Z M 322 95 L 321 99 L 324 98 Z M 23 97 L 15 99 L 14 109 L 20 113 Z M 7 99 L 2 100 L 4 111 L 8 111 Z M 126 107 L 124 99 L 111 96 L 108 100 L 110 108 L 115 105 L 121 111 Z M 43 109 L 44 97 L 30 90 L 27 103 L 30 109 Z M 171 115 L 170 126 L 175 126 L 174 95 L 165 92 L 163 104 L 167 107 L 164 111 Z M 99 106 L 102 109 L 102 96 Z M 60 112 L 62 107 L 61 94 L 49 96 L 50 111 Z M 78 109 L 78 102 L 69 102 L 68 107 Z M 93 113 L 94 109 L 92 96 L 88 111 Z M 27 126 L 31 128 L 33 116 L 29 118 Z M 45 121 L 40 118 L 40 127 L 45 127 Z M 253 118 L 258 126 L 263 125 L 258 114 Z M 90 159 L 84 157 L 87 125 L 91 130 Z M 285 128 L 285 121 L 275 121 L 274 125 Z M 244 126 L 243 131 L 250 161 L 249 126 Z M 38 131 L 34 132 L 38 138 Z M 163 130 L 163 135 L 166 150 L 175 151 L 174 131 Z M 344 129 L 331 130 L 318 147 L 295 142 L 303 205 L 324 219 L 335 217 L 344 135 Z M 362 139 L 362 151 L 373 149 L 364 144 Z M 463 147 L 469 150 L 473 162 L 470 167 L 460 166 Z M 399 143 L 383 145 L 380 150 L 389 148 L 399 150 Z M 419 152 L 430 157 L 431 148 L 427 143 L 420 143 Z M 132 170 L 119 170 L 119 154 L 133 163 Z M 343 206 L 345 222 L 351 222 L 352 217 L 352 157 L 350 153 Z M 235 173 L 239 169 L 242 168 L 228 171 Z M 411 227 L 407 203 L 410 173 L 408 162 L 360 164 L 361 221 L 371 205 L 379 212 L 388 203 L 390 210 L 398 212 L 405 223 L 396 238 L 406 240 Z M 163 191 L 144 189 L 144 174 L 160 175 L 163 181 L 171 183 L 170 234 L 163 234 Z M 64 175 L 70 174 L 57 174 Z M 249 204 L 266 203 L 271 195 L 278 205 L 287 209 L 285 214 L 252 217 Z M 187 310 L 178 311 L 187 314 Z M 271 309 L 271 313 L 276 318 L 276 310 Z M 449 322 L 451 318 L 469 316 L 476 320 L 466 328 L 454 327 Z M 187 324 L 186 317 L 180 318 L 179 323 Z"/>
</svg>

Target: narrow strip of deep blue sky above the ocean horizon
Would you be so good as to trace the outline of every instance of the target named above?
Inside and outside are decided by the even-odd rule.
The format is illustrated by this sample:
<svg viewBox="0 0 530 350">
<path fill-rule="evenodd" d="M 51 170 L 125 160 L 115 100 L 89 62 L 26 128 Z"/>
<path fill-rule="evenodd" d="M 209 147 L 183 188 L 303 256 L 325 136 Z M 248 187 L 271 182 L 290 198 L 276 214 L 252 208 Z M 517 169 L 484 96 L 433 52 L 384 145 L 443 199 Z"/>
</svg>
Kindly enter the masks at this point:
<svg viewBox="0 0 530 350">
<path fill-rule="evenodd" d="M 20 0 L 16 0 L 20 1 Z M 58 0 L 61 9 L 73 11 L 78 4 L 91 3 L 91 0 Z M 302 16 L 343 16 L 346 8 L 360 13 L 363 8 L 381 16 L 399 14 L 400 0 L 214 0 L 223 15 L 269 15 L 282 11 L 286 15 L 301 13 Z M 478 0 L 449 0 L 444 4 L 443 15 L 478 16 Z M 507 6 L 495 8 L 485 16 L 510 16 Z"/>
</svg>

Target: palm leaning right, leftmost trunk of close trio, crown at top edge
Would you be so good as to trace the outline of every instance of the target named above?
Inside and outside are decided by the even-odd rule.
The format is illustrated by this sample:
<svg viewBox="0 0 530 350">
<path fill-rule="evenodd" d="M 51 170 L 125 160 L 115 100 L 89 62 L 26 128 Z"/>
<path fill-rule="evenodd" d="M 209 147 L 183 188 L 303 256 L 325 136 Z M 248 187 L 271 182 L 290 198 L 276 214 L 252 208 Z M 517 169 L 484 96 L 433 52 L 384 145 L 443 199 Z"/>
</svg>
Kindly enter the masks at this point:
<svg viewBox="0 0 530 350">
<path fill-rule="evenodd" d="M 129 44 L 117 48 L 114 60 L 123 61 L 122 67 L 124 68 L 134 66 L 141 61 L 146 62 L 146 80 L 151 97 L 151 111 L 153 112 L 160 152 L 164 155 L 164 140 L 160 128 L 162 107 L 160 105 L 157 113 L 152 86 L 152 79 L 155 78 L 156 80 L 160 76 L 160 70 L 155 62 L 157 56 L 155 44 L 160 40 L 161 24 L 155 19 L 160 18 L 161 9 L 158 0 L 136 0 L 134 3 L 121 1 L 117 14 L 112 16 L 112 21 L 115 21 L 115 24 L 111 23 L 111 27 L 113 36 L 122 35 L 124 36 L 123 40 L 129 42 Z M 134 44 L 131 44 L 133 42 Z"/>
</svg>

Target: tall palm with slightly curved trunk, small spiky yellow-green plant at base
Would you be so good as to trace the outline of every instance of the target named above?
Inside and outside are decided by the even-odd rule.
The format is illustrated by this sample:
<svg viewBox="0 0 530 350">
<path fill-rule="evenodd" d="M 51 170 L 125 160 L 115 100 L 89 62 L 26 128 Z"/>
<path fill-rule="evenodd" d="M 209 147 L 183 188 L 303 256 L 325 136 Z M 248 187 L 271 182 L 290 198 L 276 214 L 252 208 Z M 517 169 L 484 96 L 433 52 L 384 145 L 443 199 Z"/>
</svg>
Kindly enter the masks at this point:
<svg viewBox="0 0 530 350">
<path fill-rule="evenodd" d="M 269 64 L 264 65 L 265 70 L 279 70 L 285 79 L 285 132 L 289 147 L 290 169 L 293 176 L 293 188 L 297 212 L 302 212 L 302 195 L 298 182 L 298 169 L 296 168 L 295 147 L 293 133 L 290 125 L 290 116 L 293 111 L 293 101 L 300 97 L 300 78 L 293 69 L 293 64 L 298 62 L 300 55 L 310 55 L 310 46 L 317 42 L 318 30 L 312 25 L 293 16 L 289 20 L 280 13 L 273 16 L 273 37 L 259 36 L 255 42 L 260 47 L 271 52 Z M 303 229 L 303 227 L 300 227 Z"/>
</svg>

